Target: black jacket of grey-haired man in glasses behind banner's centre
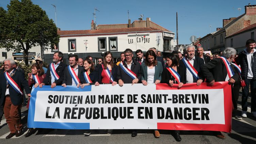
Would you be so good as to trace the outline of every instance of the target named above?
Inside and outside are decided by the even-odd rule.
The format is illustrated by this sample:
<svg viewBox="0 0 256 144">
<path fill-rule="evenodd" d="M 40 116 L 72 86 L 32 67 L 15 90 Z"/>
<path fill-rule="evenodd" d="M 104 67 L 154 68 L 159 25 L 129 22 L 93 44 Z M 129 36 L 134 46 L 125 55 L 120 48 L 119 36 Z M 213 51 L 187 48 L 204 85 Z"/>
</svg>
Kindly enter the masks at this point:
<svg viewBox="0 0 256 144">
<path fill-rule="evenodd" d="M 121 63 L 120 63 L 121 64 Z M 118 65 L 117 70 L 117 82 L 122 79 L 124 83 L 132 83 L 132 78 Z M 126 60 L 124 60 L 124 66 L 127 68 Z M 131 71 L 137 75 L 139 81 L 141 80 L 141 65 L 138 61 L 132 59 Z"/>
</svg>

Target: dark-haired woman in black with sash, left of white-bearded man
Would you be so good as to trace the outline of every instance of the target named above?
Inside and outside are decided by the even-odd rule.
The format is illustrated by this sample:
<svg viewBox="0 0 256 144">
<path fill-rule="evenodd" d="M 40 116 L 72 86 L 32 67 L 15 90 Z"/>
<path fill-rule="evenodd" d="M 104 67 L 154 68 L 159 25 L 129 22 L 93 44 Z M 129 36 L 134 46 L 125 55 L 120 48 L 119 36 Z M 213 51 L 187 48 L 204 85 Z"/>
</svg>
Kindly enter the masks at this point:
<svg viewBox="0 0 256 144">
<path fill-rule="evenodd" d="M 178 84 L 179 88 L 183 85 L 183 82 L 180 81 L 179 67 L 177 66 L 178 57 L 179 55 L 173 53 L 166 55 L 166 68 L 163 69 L 161 83 L 167 83 L 171 87 L 173 84 Z M 172 135 L 176 141 L 181 141 L 178 130 L 173 130 Z"/>
</svg>

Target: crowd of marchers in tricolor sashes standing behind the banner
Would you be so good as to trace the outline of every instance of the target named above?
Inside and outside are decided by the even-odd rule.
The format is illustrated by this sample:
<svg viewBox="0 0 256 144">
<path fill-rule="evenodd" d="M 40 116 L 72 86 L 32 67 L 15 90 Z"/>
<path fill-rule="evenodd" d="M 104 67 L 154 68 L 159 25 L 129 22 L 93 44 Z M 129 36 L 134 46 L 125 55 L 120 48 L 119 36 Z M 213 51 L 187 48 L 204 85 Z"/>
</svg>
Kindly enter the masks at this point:
<svg viewBox="0 0 256 144">
<path fill-rule="evenodd" d="M 127 83 L 143 85 L 167 83 L 171 87 L 173 84 L 178 84 L 178 88 L 181 88 L 186 83 L 196 83 L 199 86 L 202 82 L 214 85 L 215 82 L 228 81 L 234 107 L 232 116 L 239 120 L 247 117 L 247 98 L 250 87 L 251 114 L 256 117 L 255 41 L 247 40 L 245 47 L 239 54 L 234 48 L 227 47 L 219 54 L 210 55 L 204 53 L 203 47 L 195 49 L 194 46 L 187 46 L 186 54 L 173 51 L 165 57 L 162 57 L 161 51 L 157 51 L 154 47 L 149 48 L 146 54 L 139 49 L 135 51 L 136 56 L 131 49 L 126 49 L 121 53 L 117 63 L 114 63 L 112 53 L 106 51 L 103 58 L 98 58 L 97 65 L 94 64 L 92 57 L 88 56 L 83 60 L 76 54 L 68 55 L 69 65 L 66 65 L 62 62 L 63 53 L 57 51 L 54 52 L 53 62 L 48 65 L 48 68 L 42 66 L 41 58 L 36 59 L 36 63 L 31 66 L 31 73 L 28 74 L 28 81 L 13 59 L 5 59 L 0 70 L 0 120 L 4 113 L 10 129 L 6 139 L 14 135 L 16 137 L 22 135 L 20 110 L 22 102 L 26 99 L 23 90 L 28 97 L 31 97 L 32 86 L 42 88 L 44 85 L 50 85 L 54 89 L 57 85 L 63 87 L 73 85 L 83 89 L 87 85 L 123 86 Z M 241 116 L 237 111 L 240 87 L 242 87 Z M 29 108 L 29 101 L 30 99 L 27 108 Z M 35 131 L 36 129 L 29 128 L 25 137 L 29 137 Z M 109 129 L 107 133 L 112 131 Z M 152 130 L 152 132 L 156 138 L 160 137 L 158 130 Z M 181 141 L 178 130 L 171 132 L 176 141 Z M 90 130 L 85 132 L 86 135 L 90 133 Z M 213 134 L 220 139 L 226 138 L 220 131 L 214 131 Z M 137 130 L 132 130 L 131 136 L 137 136 Z"/>
</svg>

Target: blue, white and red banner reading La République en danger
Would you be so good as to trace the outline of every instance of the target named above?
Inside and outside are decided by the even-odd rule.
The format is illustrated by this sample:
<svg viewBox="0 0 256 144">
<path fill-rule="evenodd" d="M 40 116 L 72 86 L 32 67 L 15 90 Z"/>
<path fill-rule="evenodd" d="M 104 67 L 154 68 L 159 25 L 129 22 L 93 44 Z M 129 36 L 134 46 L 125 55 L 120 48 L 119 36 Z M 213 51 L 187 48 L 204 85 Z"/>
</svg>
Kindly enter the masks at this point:
<svg viewBox="0 0 256 144">
<path fill-rule="evenodd" d="M 215 82 L 33 88 L 28 127 L 231 131 L 231 86 Z"/>
</svg>

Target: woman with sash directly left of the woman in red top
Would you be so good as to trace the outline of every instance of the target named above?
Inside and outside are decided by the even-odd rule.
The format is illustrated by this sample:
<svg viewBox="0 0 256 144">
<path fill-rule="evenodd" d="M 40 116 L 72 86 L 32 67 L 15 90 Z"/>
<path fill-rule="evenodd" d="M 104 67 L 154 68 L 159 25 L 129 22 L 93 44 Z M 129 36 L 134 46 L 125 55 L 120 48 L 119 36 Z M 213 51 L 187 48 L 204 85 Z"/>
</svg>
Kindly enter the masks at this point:
<svg viewBox="0 0 256 144">
<path fill-rule="evenodd" d="M 83 62 L 83 67 L 84 67 L 84 71 L 83 71 L 83 76 L 84 79 L 86 81 L 86 83 L 81 85 L 81 88 L 83 89 L 84 86 L 87 85 L 94 85 L 95 84 L 95 78 L 97 73 L 94 71 L 94 66 L 93 66 L 93 61 L 90 59 L 86 59 Z"/>
</svg>

